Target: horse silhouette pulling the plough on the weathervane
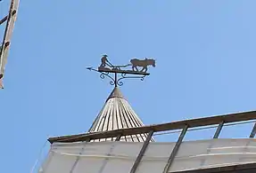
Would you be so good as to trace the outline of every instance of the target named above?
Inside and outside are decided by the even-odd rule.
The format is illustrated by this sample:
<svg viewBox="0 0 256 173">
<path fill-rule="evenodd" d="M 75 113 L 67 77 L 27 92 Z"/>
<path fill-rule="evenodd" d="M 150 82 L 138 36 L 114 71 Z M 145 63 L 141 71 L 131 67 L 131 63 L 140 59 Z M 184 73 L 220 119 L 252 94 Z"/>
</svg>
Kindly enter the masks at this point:
<svg viewBox="0 0 256 173">
<path fill-rule="evenodd" d="M 147 71 L 147 67 L 148 66 L 153 66 L 155 67 L 155 60 L 154 59 L 144 59 L 144 60 L 140 60 L 140 59 L 131 59 L 130 60 L 130 63 L 132 65 L 132 70 L 135 71 L 135 68 L 136 68 L 136 71 L 139 71 L 137 67 L 143 67 L 140 72 L 144 72 L 145 70 L 145 73 Z"/>
</svg>

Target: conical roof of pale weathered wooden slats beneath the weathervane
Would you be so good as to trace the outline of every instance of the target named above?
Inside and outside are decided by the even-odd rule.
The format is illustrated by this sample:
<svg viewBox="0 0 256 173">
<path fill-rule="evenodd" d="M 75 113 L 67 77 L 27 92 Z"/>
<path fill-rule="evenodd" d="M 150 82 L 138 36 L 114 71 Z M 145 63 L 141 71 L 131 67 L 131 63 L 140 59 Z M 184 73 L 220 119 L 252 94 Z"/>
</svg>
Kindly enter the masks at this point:
<svg viewBox="0 0 256 173">
<path fill-rule="evenodd" d="M 144 126 L 143 122 L 123 97 L 120 89 L 115 87 L 88 132 L 119 130 L 141 126 Z M 125 136 L 120 138 L 120 141 L 145 142 L 146 137 L 147 134 Z M 106 140 L 113 141 L 115 138 L 97 139 L 95 141 Z"/>
</svg>

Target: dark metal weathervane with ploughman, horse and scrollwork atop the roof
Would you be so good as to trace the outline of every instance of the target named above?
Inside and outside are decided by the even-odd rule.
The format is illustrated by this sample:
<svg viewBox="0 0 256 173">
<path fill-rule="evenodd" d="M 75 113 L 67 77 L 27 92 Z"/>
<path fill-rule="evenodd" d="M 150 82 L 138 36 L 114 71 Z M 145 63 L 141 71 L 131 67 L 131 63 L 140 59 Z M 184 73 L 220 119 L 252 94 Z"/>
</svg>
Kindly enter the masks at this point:
<svg viewBox="0 0 256 173">
<path fill-rule="evenodd" d="M 111 85 L 115 85 L 115 87 L 117 87 L 123 85 L 123 82 L 121 81 L 123 79 L 139 78 L 143 81 L 146 75 L 150 75 L 147 73 L 149 66 L 155 67 L 155 59 L 130 59 L 130 63 L 127 65 L 114 66 L 108 60 L 108 56 L 103 55 L 101 65 L 98 69 L 93 67 L 87 67 L 87 69 L 100 73 L 100 77 L 102 79 L 107 76 L 111 79 Z M 128 69 L 128 67 L 130 68 Z M 138 67 L 141 67 L 141 69 L 139 70 Z M 114 76 L 112 76 L 112 74 Z"/>
</svg>

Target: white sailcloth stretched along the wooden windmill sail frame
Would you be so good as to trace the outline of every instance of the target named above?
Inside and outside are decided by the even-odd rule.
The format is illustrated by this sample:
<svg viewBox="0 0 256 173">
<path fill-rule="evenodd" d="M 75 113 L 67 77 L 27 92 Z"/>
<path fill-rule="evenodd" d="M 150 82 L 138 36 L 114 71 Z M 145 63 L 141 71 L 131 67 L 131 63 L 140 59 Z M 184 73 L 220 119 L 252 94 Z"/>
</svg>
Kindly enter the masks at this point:
<svg viewBox="0 0 256 173">
<path fill-rule="evenodd" d="M 128 173 L 144 143 L 54 143 L 39 173 Z M 161 173 L 176 143 L 150 143 L 136 173 Z M 183 142 L 169 172 L 256 161 L 256 140 Z"/>
</svg>

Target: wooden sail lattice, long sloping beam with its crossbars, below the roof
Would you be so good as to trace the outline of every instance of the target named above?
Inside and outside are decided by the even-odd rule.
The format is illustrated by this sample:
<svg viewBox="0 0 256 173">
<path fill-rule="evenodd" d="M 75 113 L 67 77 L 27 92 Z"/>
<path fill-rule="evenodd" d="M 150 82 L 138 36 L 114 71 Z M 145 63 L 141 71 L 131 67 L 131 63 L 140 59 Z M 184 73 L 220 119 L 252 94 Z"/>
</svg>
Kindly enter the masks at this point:
<svg viewBox="0 0 256 173">
<path fill-rule="evenodd" d="M 71 142 L 79 142 L 79 141 L 89 142 L 92 139 L 100 139 L 100 138 L 116 138 L 116 141 L 119 141 L 122 136 L 147 133 L 148 134 L 147 139 L 145 140 L 145 143 L 142 146 L 140 153 L 137 155 L 136 161 L 134 162 L 132 169 L 130 170 L 130 173 L 135 173 L 140 161 L 142 161 L 143 159 L 147 146 L 149 145 L 150 139 L 153 137 L 153 133 L 160 132 L 160 131 L 167 131 L 167 130 L 182 130 L 178 137 L 178 141 L 174 146 L 174 149 L 169 155 L 169 160 L 167 161 L 167 164 L 162 171 L 163 173 L 168 173 L 169 168 L 176 154 L 178 153 L 179 146 L 181 145 L 183 139 L 186 136 L 187 130 L 191 128 L 199 128 L 199 127 L 209 126 L 209 125 L 218 125 L 218 128 L 215 131 L 213 138 L 219 138 L 219 134 L 223 126 L 225 126 L 225 124 L 232 123 L 232 122 L 252 121 L 252 120 L 256 120 L 256 111 L 236 113 L 236 114 L 224 114 L 219 116 L 185 120 L 180 122 L 169 122 L 169 123 L 156 124 L 156 125 L 150 125 L 150 126 L 144 126 L 144 127 L 138 127 L 138 128 L 111 130 L 111 131 L 104 131 L 104 132 L 85 133 L 85 134 L 78 134 L 78 135 L 71 135 L 71 136 L 48 138 L 48 141 L 51 144 L 53 144 L 54 142 L 58 142 L 58 143 L 60 142 L 71 143 Z M 256 123 L 254 124 L 254 127 L 252 128 L 252 131 L 248 137 L 254 138 L 255 134 L 256 134 Z"/>
</svg>

